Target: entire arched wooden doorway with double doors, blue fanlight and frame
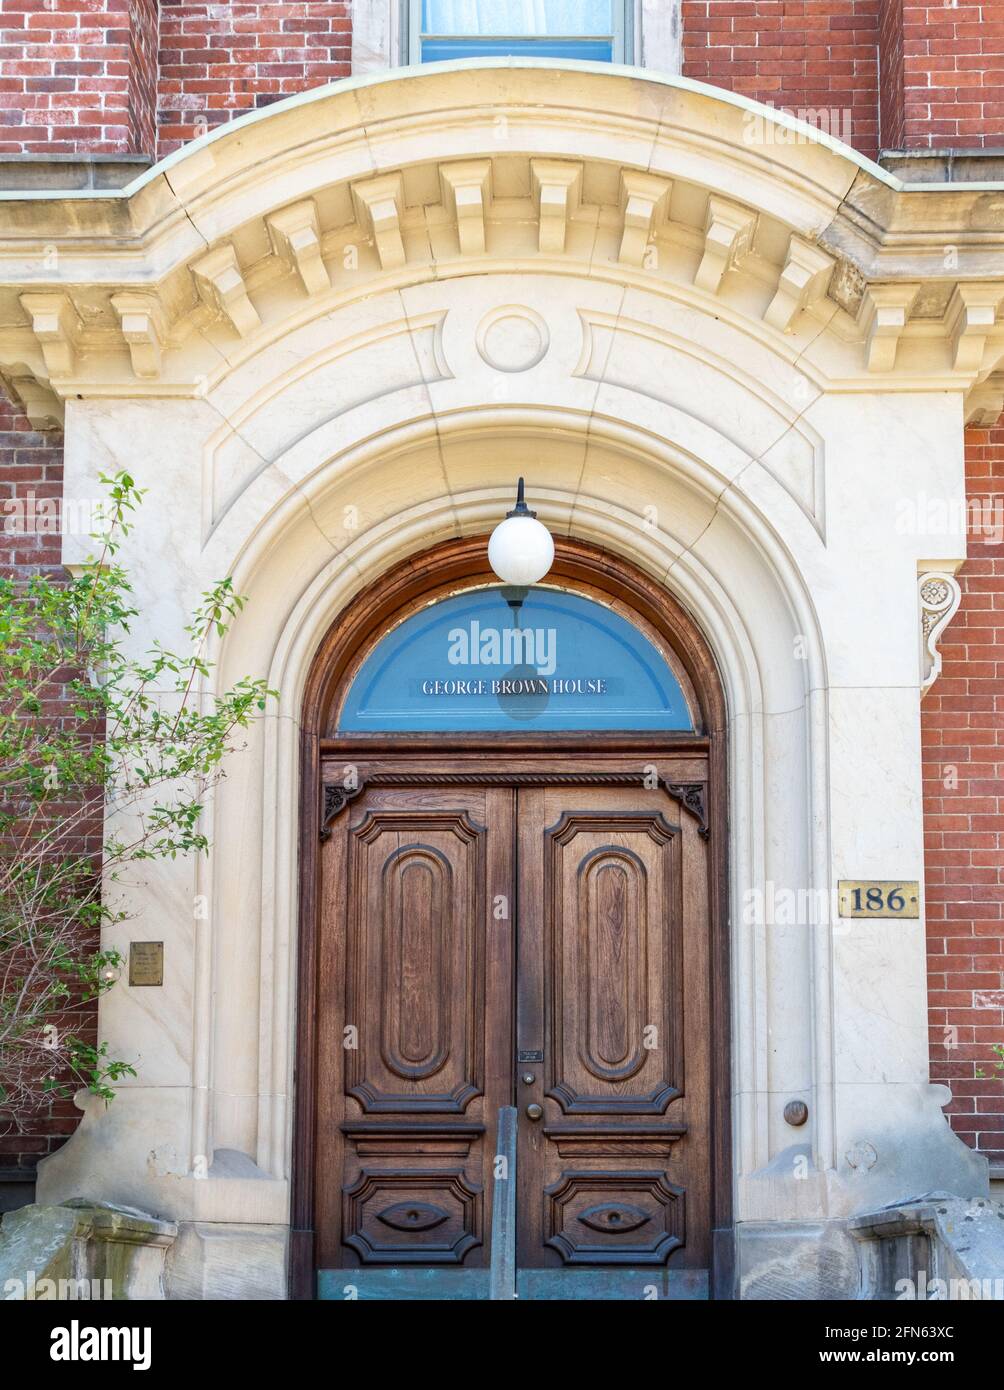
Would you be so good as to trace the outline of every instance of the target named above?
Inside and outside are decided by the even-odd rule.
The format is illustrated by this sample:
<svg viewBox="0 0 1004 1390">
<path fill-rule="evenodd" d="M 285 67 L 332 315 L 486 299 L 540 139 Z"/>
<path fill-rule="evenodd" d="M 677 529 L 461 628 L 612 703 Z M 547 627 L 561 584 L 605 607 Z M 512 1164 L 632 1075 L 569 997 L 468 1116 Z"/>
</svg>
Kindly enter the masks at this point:
<svg viewBox="0 0 1004 1390">
<path fill-rule="evenodd" d="M 338 616 L 303 705 L 295 1297 L 488 1297 L 499 1182 L 520 1297 L 730 1295 L 724 731 L 690 614 L 580 541 L 516 610 L 473 537 Z"/>
</svg>

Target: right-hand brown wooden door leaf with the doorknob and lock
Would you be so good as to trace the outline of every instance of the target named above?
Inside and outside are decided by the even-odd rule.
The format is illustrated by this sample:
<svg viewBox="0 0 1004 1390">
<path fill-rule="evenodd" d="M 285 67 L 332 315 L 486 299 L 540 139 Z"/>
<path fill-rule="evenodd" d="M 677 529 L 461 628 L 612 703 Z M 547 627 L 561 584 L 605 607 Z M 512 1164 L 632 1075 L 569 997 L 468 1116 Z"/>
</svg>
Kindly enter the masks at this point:
<svg viewBox="0 0 1004 1390">
<path fill-rule="evenodd" d="M 697 821 L 661 790 L 553 787 L 520 791 L 517 834 L 516 1045 L 541 1058 L 519 1068 L 519 1264 L 706 1268 Z"/>
</svg>

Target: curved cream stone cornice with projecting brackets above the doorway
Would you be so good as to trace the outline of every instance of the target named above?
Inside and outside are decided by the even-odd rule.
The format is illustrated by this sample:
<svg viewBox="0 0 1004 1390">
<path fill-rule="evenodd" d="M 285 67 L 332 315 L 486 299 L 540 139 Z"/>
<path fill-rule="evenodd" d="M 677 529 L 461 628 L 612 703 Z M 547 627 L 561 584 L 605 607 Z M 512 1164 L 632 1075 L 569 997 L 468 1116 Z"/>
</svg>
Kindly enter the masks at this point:
<svg viewBox="0 0 1004 1390">
<path fill-rule="evenodd" d="M 1000 411 L 1004 229 L 985 189 L 904 186 L 808 126 L 751 146 L 743 99 L 588 64 L 574 86 L 508 67 L 499 142 L 481 76 L 338 83 L 121 193 L 18 197 L 0 235 L 0 371 L 31 418 L 57 421 L 71 395 L 202 395 L 285 325 L 471 260 L 572 263 L 727 313 L 793 364 L 822 336 L 829 389 L 957 389 L 972 423 Z M 516 327 L 483 325 L 499 371 L 546 350 L 540 324 Z"/>
</svg>

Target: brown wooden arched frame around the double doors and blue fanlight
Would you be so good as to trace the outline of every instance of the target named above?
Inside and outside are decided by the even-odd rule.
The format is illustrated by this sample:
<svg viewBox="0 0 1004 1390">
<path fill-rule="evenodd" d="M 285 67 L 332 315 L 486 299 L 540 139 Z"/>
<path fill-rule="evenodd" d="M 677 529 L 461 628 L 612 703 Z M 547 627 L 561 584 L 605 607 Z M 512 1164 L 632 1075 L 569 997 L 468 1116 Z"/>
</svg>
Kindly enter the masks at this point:
<svg viewBox="0 0 1004 1390">
<path fill-rule="evenodd" d="M 649 744 L 659 785 L 666 792 L 667 820 L 659 817 L 665 833 L 679 830 L 680 816 L 693 817 L 699 835 L 709 845 L 711 899 L 711 1016 L 713 1030 L 712 1076 L 712 1152 L 713 1152 L 713 1229 L 715 1268 L 719 1293 L 730 1289 L 733 1223 L 733 1143 L 731 1143 L 731 1061 L 730 1061 L 730 947 L 729 947 L 729 878 L 727 878 L 727 706 L 718 662 L 701 626 L 687 609 L 630 560 L 597 545 L 567 537 L 555 537 L 555 563 L 548 574 L 558 584 L 598 599 L 623 616 L 659 646 L 673 664 L 695 716 L 694 733 L 674 734 L 548 734 L 537 738 L 521 733 L 455 734 L 382 734 L 357 735 L 337 733 L 341 701 L 366 656 L 388 627 L 409 613 L 464 588 L 496 582 L 487 560 L 487 535 L 442 542 L 394 566 L 357 594 L 335 617 L 321 639 L 306 681 L 302 705 L 300 746 L 300 917 L 299 980 L 296 1026 L 296 1098 L 292 1152 L 292 1232 L 291 1287 L 295 1295 L 310 1297 L 313 1287 L 314 1226 L 314 1097 L 318 1084 L 316 1038 L 317 954 L 320 935 L 320 847 L 330 835 L 332 821 L 345 813 L 364 787 L 409 785 L 541 785 L 572 783 L 597 785 L 631 785 L 638 773 L 612 773 L 602 767 L 602 755 L 644 748 Z M 435 752 L 449 749 L 449 759 L 476 751 L 489 759 L 515 751 L 527 752 L 549 744 L 570 753 L 595 752 L 595 770 L 562 773 L 512 771 L 485 762 L 469 771 L 449 767 L 431 773 L 409 770 L 406 756 L 416 746 Z M 659 751 L 673 749 L 690 755 L 694 766 L 706 769 L 699 781 L 683 781 L 658 771 Z M 342 781 L 325 777 L 325 762 L 343 769 L 353 755 L 378 752 L 384 758 L 402 758 L 399 769 L 366 778 Z M 363 821 L 363 827 L 369 821 Z M 355 1093 L 352 1093 L 355 1094 Z M 655 1102 L 654 1102 L 655 1104 Z M 656 1106 L 658 1109 L 658 1106 Z"/>
</svg>

